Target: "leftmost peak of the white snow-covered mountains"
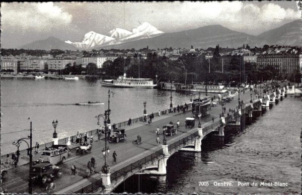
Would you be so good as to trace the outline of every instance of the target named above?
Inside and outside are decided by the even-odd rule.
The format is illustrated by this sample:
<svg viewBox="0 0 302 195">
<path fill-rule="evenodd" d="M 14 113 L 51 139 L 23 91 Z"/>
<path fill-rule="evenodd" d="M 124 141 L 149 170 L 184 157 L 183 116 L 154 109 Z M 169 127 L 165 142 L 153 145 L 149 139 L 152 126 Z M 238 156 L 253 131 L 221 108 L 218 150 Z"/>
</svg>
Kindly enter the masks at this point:
<svg viewBox="0 0 302 195">
<path fill-rule="evenodd" d="M 112 37 L 108 37 L 108 36 L 101 35 L 96 32 L 90 31 L 89 33 L 85 34 L 82 42 L 72 43 L 71 41 L 65 41 L 65 43 L 71 44 L 71 45 L 77 47 L 78 49 L 89 49 L 89 48 L 103 45 L 104 43 L 107 43 L 112 40 L 115 40 L 115 39 Z"/>
</svg>

